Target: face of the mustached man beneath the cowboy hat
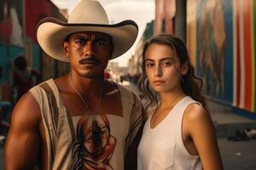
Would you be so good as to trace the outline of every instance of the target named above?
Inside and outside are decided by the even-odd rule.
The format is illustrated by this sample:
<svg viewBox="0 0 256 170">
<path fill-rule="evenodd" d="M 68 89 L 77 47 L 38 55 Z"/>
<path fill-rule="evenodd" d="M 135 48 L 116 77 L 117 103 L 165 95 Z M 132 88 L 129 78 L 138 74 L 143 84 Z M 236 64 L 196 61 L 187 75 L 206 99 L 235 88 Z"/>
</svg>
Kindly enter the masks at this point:
<svg viewBox="0 0 256 170">
<path fill-rule="evenodd" d="M 111 38 L 102 32 L 76 32 L 63 43 L 73 71 L 83 77 L 103 76 L 113 53 Z"/>
</svg>

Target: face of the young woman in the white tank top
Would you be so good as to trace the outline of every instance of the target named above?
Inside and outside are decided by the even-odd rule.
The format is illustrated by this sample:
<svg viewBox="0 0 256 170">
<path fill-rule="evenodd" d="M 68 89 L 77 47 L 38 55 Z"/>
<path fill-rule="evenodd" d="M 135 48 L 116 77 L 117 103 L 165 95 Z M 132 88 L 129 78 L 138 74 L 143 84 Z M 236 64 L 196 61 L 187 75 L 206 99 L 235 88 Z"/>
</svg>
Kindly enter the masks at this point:
<svg viewBox="0 0 256 170">
<path fill-rule="evenodd" d="M 171 47 L 152 43 L 144 55 L 148 81 L 158 93 L 180 88 L 180 61 Z"/>
</svg>

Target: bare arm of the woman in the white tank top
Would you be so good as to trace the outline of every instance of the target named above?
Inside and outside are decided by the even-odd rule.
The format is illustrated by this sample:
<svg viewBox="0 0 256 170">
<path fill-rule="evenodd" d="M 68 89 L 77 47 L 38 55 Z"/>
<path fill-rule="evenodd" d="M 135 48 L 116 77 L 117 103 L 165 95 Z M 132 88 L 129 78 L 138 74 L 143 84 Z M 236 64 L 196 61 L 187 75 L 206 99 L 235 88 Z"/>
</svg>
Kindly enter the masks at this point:
<svg viewBox="0 0 256 170">
<path fill-rule="evenodd" d="M 189 105 L 183 121 L 201 158 L 202 167 L 205 170 L 222 170 L 223 164 L 209 113 L 201 105 Z"/>
</svg>

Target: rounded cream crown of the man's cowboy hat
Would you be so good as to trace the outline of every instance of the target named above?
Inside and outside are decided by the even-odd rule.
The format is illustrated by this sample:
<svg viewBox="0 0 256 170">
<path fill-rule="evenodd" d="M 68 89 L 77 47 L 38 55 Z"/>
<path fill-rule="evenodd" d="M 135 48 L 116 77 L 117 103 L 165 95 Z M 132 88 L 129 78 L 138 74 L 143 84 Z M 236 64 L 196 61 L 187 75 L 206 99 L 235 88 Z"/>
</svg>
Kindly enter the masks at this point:
<svg viewBox="0 0 256 170">
<path fill-rule="evenodd" d="M 102 4 L 95 0 L 81 0 L 69 15 L 68 24 L 109 25 L 108 15 Z"/>
</svg>

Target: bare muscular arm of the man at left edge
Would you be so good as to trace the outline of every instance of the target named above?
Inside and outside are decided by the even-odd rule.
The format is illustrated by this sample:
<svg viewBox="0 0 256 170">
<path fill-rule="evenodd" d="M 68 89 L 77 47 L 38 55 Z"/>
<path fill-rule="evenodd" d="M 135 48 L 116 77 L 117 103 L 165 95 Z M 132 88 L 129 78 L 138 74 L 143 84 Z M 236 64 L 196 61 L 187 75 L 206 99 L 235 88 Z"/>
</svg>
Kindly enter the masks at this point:
<svg viewBox="0 0 256 170">
<path fill-rule="evenodd" d="M 12 113 L 5 144 L 5 169 L 33 169 L 40 149 L 40 108 L 32 94 L 22 96 Z"/>
</svg>

